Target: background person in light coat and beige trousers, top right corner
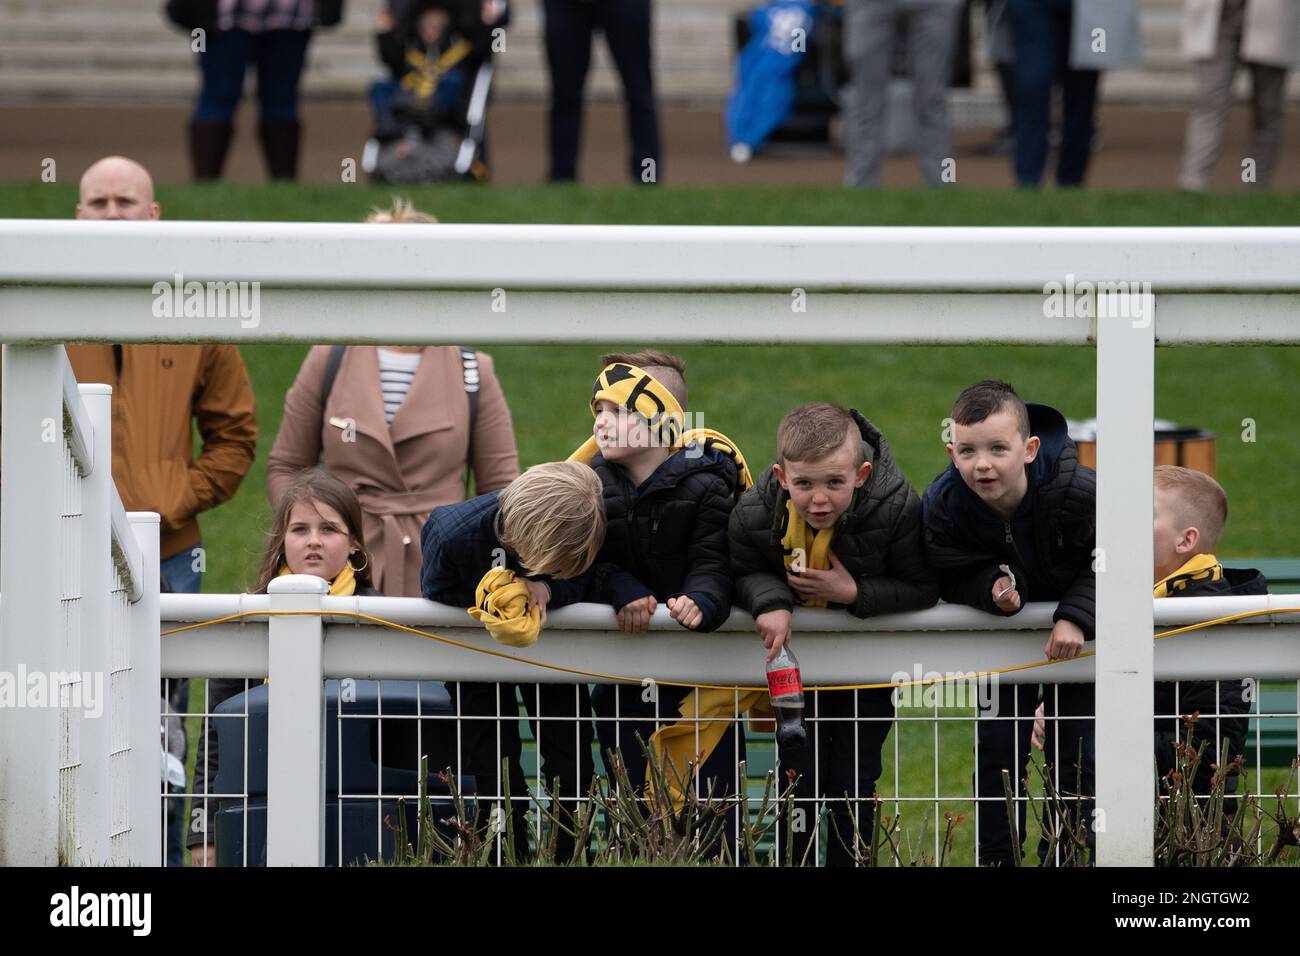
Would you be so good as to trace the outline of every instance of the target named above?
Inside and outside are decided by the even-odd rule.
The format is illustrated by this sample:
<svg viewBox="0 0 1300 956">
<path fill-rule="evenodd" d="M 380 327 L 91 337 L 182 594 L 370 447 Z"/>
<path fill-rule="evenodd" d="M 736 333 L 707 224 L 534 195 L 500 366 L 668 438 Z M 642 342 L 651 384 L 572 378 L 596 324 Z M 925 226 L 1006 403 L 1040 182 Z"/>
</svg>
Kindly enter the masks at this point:
<svg viewBox="0 0 1300 956">
<path fill-rule="evenodd" d="M 1300 4 L 1296 0 L 1187 0 L 1183 52 L 1192 60 L 1196 101 L 1187 117 L 1187 140 L 1178 177 L 1180 189 L 1209 187 L 1223 151 L 1232 79 L 1238 66 L 1251 73 L 1251 140 L 1242 181 L 1266 187 L 1282 148 L 1287 69 L 1300 59 Z"/>
</svg>

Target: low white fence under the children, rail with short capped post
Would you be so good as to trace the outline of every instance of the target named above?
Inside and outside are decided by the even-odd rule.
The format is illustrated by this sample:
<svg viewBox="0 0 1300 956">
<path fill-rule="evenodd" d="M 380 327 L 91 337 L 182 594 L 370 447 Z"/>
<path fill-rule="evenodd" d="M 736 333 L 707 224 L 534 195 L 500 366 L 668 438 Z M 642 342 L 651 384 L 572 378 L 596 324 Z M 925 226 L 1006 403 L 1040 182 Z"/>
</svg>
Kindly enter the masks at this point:
<svg viewBox="0 0 1300 956">
<path fill-rule="evenodd" d="M 1296 640 L 1300 637 L 1300 613 L 1278 610 L 1295 606 L 1296 597 L 1288 594 L 1156 601 L 1154 622 L 1162 630 L 1249 611 L 1274 611 L 1157 641 L 1156 679 L 1182 682 L 1249 675 L 1254 680 L 1295 680 L 1300 675 L 1300 641 Z M 317 611 L 318 615 L 274 614 L 304 610 Z M 941 605 L 926 611 L 861 620 L 844 611 L 803 609 L 794 613 L 794 631 L 798 635 L 800 662 L 807 685 L 888 683 L 900 680 L 902 675 L 907 680 L 922 680 L 935 675 L 998 671 L 1041 661 L 1053 610 L 1052 604 L 1031 604 L 1014 618 L 1004 619 L 970 607 Z M 268 615 L 266 611 L 272 614 Z M 530 648 L 510 650 L 507 658 L 476 653 L 351 617 L 363 614 L 380 618 L 480 650 L 502 652 L 503 648 L 494 644 L 463 609 L 417 598 L 329 597 L 324 583 L 312 576 L 278 579 L 272 583 L 270 594 L 165 594 L 161 614 L 164 630 L 229 615 L 247 615 L 164 637 L 162 675 L 244 678 L 250 684 L 269 679 L 273 688 L 268 696 L 265 793 L 265 860 L 269 865 L 318 865 L 325 861 L 325 827 L 333 826 L 333 822 L 325 819 L 325 782 L 321 779 L 326 756 L 322 750 L 326 715 L 321 709 L 318 689 L 322 680 L 614 683 L 611 676 L 621 676 L 642 688 L 663 682 L 763 684 L 762 646 L 755 637 L 753 619 L 742 611 L 733 611 L 718 632 L 697 635 L 684 631 L 660 609 L 649 633 L 623 635 L 618 631 L 611 609 L 576 605 L 552 611 L 542 639 Z M 330 617 L 332 614 L 337 617 Z M 540 667 L 538 663 L 551 667 Z M 997 674 L 991 683 L 996 687 L 998 683 L 1093 682 L 1095 663 L 1093 658 L 1062 661 Z M 974 696 L 970 695 L 972 700 Z M 508 701 L 498 719 L 517 722 L 512 691 Z M 216 701 L 209 701 L 209 708 L 214 705 Z M 426 714 L 425 719 L 429 717 L 432 715 Z M 1001 717 L 1005 719 L 1011 715 Z M 738 722 L 740 718 L 740 714 L 734 714 L 728 719 Z M 1292 723 L 1296 721 L 1294 713 L 1278 715 L 1280 718 L 1291 718 Z M 932 718 L 922 715 L 905 719 Z M 971 723 L 971 715 L 957 719 Z M 562 721 L 559 726 L 567 728 L 569 722 Z M 901 726 L 900 722 L 897 727 Z M 1150 721 L 1145 726 L 1150 727 Z M 547 727 L 546 732 L 555 731 Z M 901 731 L 896 731 L 896 748 L 898 732 Z M 1149 730 L 1145 731 L 1148 737 L 1149 734 Z M 1143 749 L 1143 732 L 1128 734 L 1126 739 L 1130 747 Z M 634 744 L 628 741 L 624 745 Z M 247 760 L 247 745 L 240 749 Z M 1149 752 L 1150 745 L 1147 743 L 1144 754 Z M 391 749 L 386 753 L 393 760 L 402 758 Z M 1248 757 L 1251 753 L 1253 750 L 1248 749 Z M 339 760 L 342 761 L 342 756 Z M 404 762 L 411 762 L 410 754 L 406 754 Z M 430 767 L 441 769 L 443 767 Z M 1248 769 L 1257 788 L 1257 753 L 1253 766 L 1248 760 Z M 454 770 L 458 778 L 464 775 L 463 767 L 456 766 Z M 247 767 L 243 779 L 248 780 Z M 209 791 L 211 787 L 209 779 Z M 924 793 L 900 793 L 897 779 L 892 796 L 888 786 L 881 784 L 880 790 L 887 803 L 931 801 Z M 491 791 L 480 790 L 481 795 L 485 792 Z M 534 792 L 540 792 L 540 787 L 534 787 Z M 1134 784 L 1126 788 L 1124 805 L 1150 803 L 1152 792 Z M 937 767 L 935 793 L 939 793 Z M 199 805 L 202 796 L 196 793 L 195 805 Z M 415 793 L 385 796 L 382 792 L 370 799 L 391 801 L 399 796 L 408 801 L 415 799 Z M 502 799 L 499 793 L 493 796 Z M 228 805 L 242 797 L 247 813 L 247 791 L 242 795 L 222 793 L 221 797 Z M 205 803 L 216 801 L 216 796 L 209 796 Z M 757 801 L 751 799 L 750 803 Z M 953 800 L 936 796 L 933 803 L 968 804 L 970 797 Z M 992 808 L 982 805 L 976 812 L 1005 810 L 998 804 Z M 1106 814 L 1108 825 L 1113 812 Z M 936 835 L 937 818 L 936 813 L 932 821 Z M 342 829 L 342 823 L 339 827 Z"/>
</svg>

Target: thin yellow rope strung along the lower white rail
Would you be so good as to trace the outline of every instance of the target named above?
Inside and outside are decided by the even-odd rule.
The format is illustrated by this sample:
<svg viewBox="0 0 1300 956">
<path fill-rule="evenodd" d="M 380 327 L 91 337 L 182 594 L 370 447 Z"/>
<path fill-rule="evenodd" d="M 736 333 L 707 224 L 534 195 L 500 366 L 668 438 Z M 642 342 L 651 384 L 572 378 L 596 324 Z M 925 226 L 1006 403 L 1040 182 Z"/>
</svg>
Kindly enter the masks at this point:
<svg viewBox="0 0 1300 956">
<path fill-rule="evenodd" d="M 1300 607 L 1273 607 L 1269 610 L 1260 611 L 1242 611 L 1240 614 L 1231 614 L 1226 618 L 1216 618 L 1214 620 L 1202 620 L 1199 624 L 1187 624 L 1186 627 L 1175 627 L 1173 631 L 1162 631 L 1154 636 L 1153 640 L 1160 640 L 1161 637 L 1173 637 L 1178 633 L 1187 633 L 1188 631 L 1200 631 L 1208 627 L 1216 627 L 1218 624 L 1226 624 L 1232 620 L 1243 620 L 1245 618 L 1258 618 L 1266 614 L 1296 614 L 1300 613 Z M 306 614 L 311 617 L 332 617 L 332 618 L 356 618 L 359 620 L 368 620 L 372 624 L 381 624 L 384 627 L 390 627 L 394 631 L 406 631 L 407 633 L 420 635 L 421 637 L 428 637 L 429 640 L 441 641 L 442 644 L 450 644 L 454 648 L 463 648 L 464 650 L 473 650 L 478 654 L 490 654 L 491 657 L 500 657 L 507 661 L 515 661 L 519 663 L 526 663 L 533 667 L 542 667 L 543 670 L 560 671 L 562 674 L 572 674 L 580 678 L 594 678 L 601 680 L 612 680 L 620 684 L 642 684 L 644 680 L 638 678 L 628 678 L 619 674 L 601 674 L 598 671 L 585 671 L 577 667 L 564 667 L 558 663 L 546 663 L 543 661 L 529 661 L 523 657 L 515 657 L 514 654 L 507 654 L 502 650 L 493 650 L 491 648 L 478 648 L 473 644 L 465 644 L 464 641 L 452 640 L 451 637 L 443 637 L 442 635 L 429 633 L 428 631 L 421 631 L 417 627 L 407 627 L 406 624 L 398 624 L 393 620 L 385 620 L 384 618 L 376 618 L 369 614 L 361 614 L 360 611 L 239 611 L 238 614 L 228 614 L 224 618 L 213 618 L 212 620 L 200 620 L 196 624 L 185 624 L 183 627 L 173 627 L 169 631 L 162 631 L 160 637 L 168 637 L 173 633 L 181 633 L 183 631 L 194 631 L 200 627 L 211 627 L 212 624 L 225 624 L 230 620 L 238 620 L 239 618 L 261 618 L 261 617 L 291 617 L 296 614 Z M 1086 650 L 1078 657 L 1067 658 L 1069 661 L 1079 661 L 1086 657 L 1096 657 L 1096 650 Z M 916 685 L 930 685 L 930 684 L 945 684 L 954 680 L 975 680 L 992 674 L 1013 674 L 1015 671 L 1030 670 L 1032 667 L 1048 667 L 1053 663 L 1066 663 L 1066 659 L 1060 661 L 1034 661 L 1032 663 L 1018 663 L 1009 667 L 996 667 L 987 671 L 971 671 L 970 674 L 957 674 L 946 678 L 922 678 L 919 680 L 900 680 L 897 683 L 883 683 L 883 684 L 818 684 L 806 687 L 806 691 L 878 691 L 894 687 L 916 687 Z M 654 682 L 662 687 L 684 687 L 688 689 L 698 688 L 701 691 L 766 691 L 767 685 L 738 685 L 738 684 L 692 684 L 680 680 L 655 680 Z"/>
</svg>

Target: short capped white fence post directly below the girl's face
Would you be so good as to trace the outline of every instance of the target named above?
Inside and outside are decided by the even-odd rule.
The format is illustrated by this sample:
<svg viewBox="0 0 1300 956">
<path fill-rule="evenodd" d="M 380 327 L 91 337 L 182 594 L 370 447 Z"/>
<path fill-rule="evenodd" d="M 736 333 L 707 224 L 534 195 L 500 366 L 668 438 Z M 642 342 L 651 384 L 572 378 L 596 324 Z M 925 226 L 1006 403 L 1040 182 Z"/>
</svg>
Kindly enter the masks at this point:
<svg viewBox="0 0 1300 956">
<path fill-rule="evenodd" d="M 318 611 L 329 585 L 277 578 L 272 611 Z M 325 865 L 324 628 L 318 614 L 272 617 L 268 636 L 266 865 Z"/>
</svg>

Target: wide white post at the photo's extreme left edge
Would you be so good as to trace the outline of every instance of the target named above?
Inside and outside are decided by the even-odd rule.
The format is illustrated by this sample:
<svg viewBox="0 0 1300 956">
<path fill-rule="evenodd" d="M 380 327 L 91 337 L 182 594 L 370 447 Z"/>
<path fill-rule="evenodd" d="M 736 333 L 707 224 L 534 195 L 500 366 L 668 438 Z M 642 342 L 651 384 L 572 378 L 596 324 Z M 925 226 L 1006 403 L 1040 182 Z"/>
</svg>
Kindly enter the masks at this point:
<svg viewBox="0 0 1300 956">
<path fill-rule="evenodd" d="M 0 455 L 10 466 L 0 477 L 0 670 L 17 696 L 26 695 L 29 674 L 62 670 L 61 363 L 57 346 L 4 347 Z M 26 702 L 0 711 L 0 865 L 53 866 L 68 862 L 58 852 L 60 711 Z"/>
</svg>

